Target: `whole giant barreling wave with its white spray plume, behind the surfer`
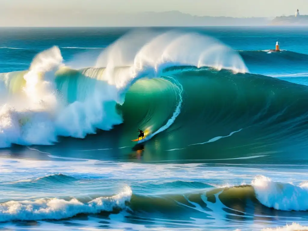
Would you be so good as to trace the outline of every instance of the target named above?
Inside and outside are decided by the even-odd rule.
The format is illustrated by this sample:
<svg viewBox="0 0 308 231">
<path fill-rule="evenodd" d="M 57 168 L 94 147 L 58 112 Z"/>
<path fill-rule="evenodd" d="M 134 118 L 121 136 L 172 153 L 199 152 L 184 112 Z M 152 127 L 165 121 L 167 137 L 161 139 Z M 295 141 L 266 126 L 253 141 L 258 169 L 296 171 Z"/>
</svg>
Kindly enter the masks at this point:
<svg viewBox="0 0 308 231">
<path fill-rule="evenodd" d="M 0 147 L 49 145 L 60 136 L 85 138 L 102 130 L 108 134 L 97 143 L 116 147 L 101 149 L 133 147 L 140 128 L 147 151 L 176 151 L 186 161 L 291 152 L 296 161 L 307 151 L 307 86 L 251 74 L 244 63 L 277 57 L 293 57 L 296 65 L 306 55 L 238 52 L 216 39 L 175 31 L 126 34 L 90 67 L 79 59 L 64 62 L 52 47 L 36 55 L 29 70 L 0 74 Z M 82 149 L 92 150 L 92 142 Z"/>
</svg>

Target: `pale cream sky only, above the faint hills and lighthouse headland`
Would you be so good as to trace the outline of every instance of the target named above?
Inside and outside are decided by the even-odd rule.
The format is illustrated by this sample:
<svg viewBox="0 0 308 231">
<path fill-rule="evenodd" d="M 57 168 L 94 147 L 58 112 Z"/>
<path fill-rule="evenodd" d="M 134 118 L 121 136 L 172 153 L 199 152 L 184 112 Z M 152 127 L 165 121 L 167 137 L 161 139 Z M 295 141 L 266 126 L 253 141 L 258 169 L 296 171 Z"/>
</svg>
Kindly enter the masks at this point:
<svg viewBox="0 0 308 231">
<path fill-rule="evenodd" d="M 87 17 L 107 20 L 106 14 L 171 11 L 198 16 L 275 17 L 308 14 L 308 0 L 0 0 L 0 26 L 40 25 Z M 56 17 L 59 17 L 58 19 Z"/>
</svg>

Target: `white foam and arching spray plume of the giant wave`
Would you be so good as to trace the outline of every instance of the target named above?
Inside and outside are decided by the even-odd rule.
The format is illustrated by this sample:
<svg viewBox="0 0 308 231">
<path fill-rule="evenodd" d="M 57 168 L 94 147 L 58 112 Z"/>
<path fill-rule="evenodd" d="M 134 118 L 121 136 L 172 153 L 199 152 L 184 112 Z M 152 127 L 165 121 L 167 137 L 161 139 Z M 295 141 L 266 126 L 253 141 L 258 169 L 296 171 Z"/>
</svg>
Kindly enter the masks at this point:
<svg viewBox="0 0 308 231">
<path fill-rule="evenodd" d="M 7 100 L 0 108 L 0 147 L 12 143 L 52 144 L 57 136 L 83 138 L 95 133 L 97 128 L 109 130 L 123 122 L 115 105 L 124 102 L 128 88 L 137 79 L 160 77 L 168 66 L 248 71 L 239 54 L 215 39 L 191 33 L 135 31 L 107 47 L 95 67 L 83 71 L 86 80 L 77 82 L 76 101 L 67 104 L 59 97 L 58 90 L 66 95 L 69 82 L 63 84 L 66 88 L 62 86 L 58 90 L 54 82 L 55 71 L 62 66 L 62 61 L 58 47 L 34 58 L 24 75 L 26 85 L 22 97 L 14 103 Z M 7 81 L 4 85 L 8 87 Z M 183 91 L 179 84 L 177 86 L 179 92 Z M 180 106 L 181 100 L 172 118 L 158 131 L 173 123 Z"/>
</svg>

